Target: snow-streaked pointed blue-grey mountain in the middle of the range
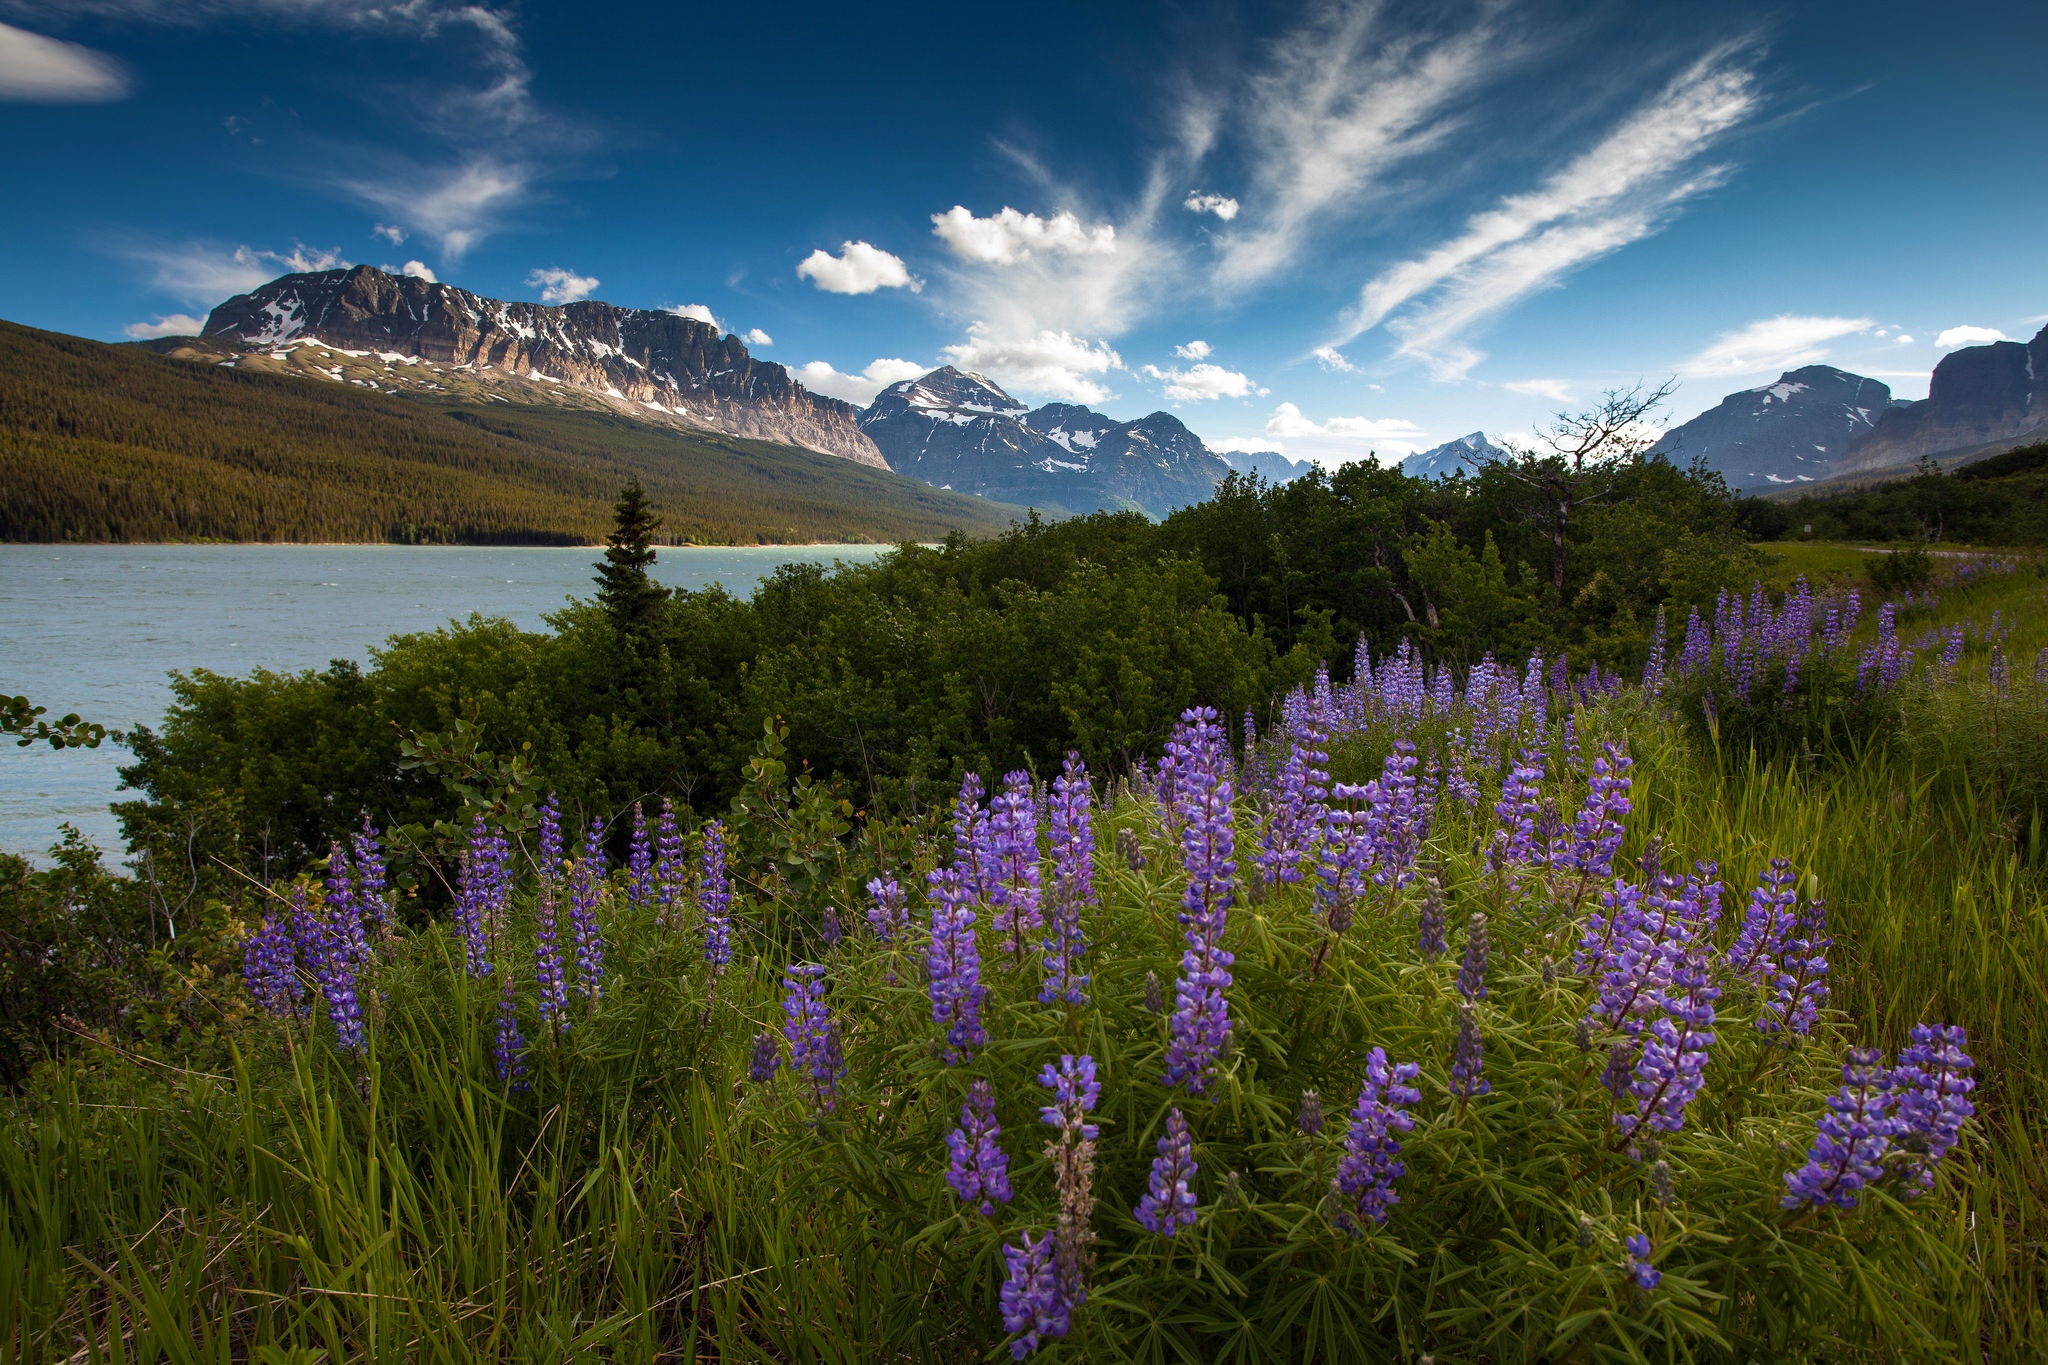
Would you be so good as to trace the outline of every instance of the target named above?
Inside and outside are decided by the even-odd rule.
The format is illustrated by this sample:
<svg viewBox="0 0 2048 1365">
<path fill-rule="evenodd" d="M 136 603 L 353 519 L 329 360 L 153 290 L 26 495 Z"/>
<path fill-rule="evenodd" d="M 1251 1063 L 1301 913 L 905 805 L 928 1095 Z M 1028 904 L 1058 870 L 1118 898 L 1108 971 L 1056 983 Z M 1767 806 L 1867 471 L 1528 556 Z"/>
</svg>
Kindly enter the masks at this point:
<svg viewBox="0 0 2048 1365">
<path fill-rule="evenodd" d="M 1075 403 L 1026 409 L 950 364 L 883 389 L 860 430 L 899 473 L 1047 512 L 1165 516 L 1229 473 L 1171 413 L 1116 422 Z"/>
</svg>

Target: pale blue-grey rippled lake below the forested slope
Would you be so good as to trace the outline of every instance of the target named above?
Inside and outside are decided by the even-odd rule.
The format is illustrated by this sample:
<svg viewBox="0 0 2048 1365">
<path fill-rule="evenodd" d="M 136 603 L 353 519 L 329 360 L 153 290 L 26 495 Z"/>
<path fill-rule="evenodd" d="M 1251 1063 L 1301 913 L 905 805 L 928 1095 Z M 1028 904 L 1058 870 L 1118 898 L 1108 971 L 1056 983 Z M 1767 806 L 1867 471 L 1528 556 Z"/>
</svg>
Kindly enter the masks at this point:
<svg viewBox="0 0 2048 1365">
<path fill-rule="evenodd" d="M 754 587 L 778 565 L 870 561 L 877 544 L 666 548 L 672 587 Z M 158 724 L 172 669 L 326 667 L 471 612 L 539 628 L 590 596 L 598 551 L 393 544 L 0 544 L 0 694 L 109 729 Z M 41 855 L 66 821 L 121 853 L 106 802 L 127 751 L 0 743 L 0 849 Z M 121 794 L 125 796 L 125 794 Z"/>
</svg>

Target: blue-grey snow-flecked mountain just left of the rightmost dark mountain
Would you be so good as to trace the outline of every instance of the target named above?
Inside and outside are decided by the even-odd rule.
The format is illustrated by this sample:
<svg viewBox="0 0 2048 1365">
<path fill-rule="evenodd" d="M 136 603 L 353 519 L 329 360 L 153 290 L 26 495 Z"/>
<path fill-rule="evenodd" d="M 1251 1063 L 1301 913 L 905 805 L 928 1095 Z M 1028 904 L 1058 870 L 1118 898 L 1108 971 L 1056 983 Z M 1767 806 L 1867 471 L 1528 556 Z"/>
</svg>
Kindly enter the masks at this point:
<svg viewBox="0 0 2048 1365">
<path fill-rule="evenodd" d="M 1673 465 L 1704 460 L 1731 489 L 1812 483 L 1835 473 L 1843 452 L 1892 411 L 1892 391 L 1831 364 L 1786 370 L 1778 383 L 1743 389 L 1665 432 L 1653 454 Z"/>
</svg>

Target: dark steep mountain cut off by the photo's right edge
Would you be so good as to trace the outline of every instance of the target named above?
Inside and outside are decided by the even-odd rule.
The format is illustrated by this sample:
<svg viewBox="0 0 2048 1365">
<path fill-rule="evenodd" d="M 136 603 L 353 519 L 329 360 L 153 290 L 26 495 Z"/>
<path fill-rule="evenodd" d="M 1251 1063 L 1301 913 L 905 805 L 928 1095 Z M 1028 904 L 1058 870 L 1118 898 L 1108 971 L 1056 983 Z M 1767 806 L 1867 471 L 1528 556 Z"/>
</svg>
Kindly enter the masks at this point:
<svg viewBox="0 0 2048 1365">
<path fill-rule="evenodd" d="M 1991 342 L 1942 356 L 1919 403 L 1892 407 L 1843 450 L 1833 473 L 1974 454 L 2048 434 L 2048 327 L 2032 342 Z"/>
</svg>

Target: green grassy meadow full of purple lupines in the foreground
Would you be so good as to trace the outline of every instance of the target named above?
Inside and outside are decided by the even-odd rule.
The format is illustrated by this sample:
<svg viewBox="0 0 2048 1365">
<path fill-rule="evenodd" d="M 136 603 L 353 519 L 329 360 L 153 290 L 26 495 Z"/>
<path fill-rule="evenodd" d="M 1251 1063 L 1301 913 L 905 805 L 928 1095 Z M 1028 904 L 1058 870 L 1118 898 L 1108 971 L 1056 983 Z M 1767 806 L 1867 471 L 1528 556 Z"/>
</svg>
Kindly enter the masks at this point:
<svg viewBox="0 0 2048 1365">
<path fill-rule="evenodd" d="M 612 839 L 416 755 L 453 860 L 6 1101 L 0 1355 L 2030 1359 L 2048 575 L 1788 555 L 1640 679 L 1364 653 L 887 817 L 772 718 Z"/>
</svg>

